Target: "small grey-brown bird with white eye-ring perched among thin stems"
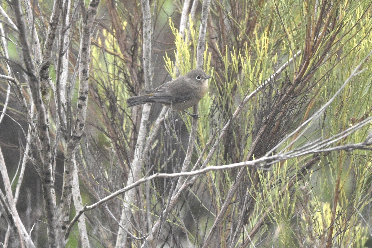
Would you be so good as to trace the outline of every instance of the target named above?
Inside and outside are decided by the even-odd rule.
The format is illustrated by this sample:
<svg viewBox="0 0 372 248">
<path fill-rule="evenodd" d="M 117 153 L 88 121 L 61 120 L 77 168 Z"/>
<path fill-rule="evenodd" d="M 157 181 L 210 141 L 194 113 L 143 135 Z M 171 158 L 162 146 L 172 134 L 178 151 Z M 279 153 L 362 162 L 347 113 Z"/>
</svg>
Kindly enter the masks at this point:
<svg viewBox="0 0 372 248">
<path fill-rule="evenodd" d="M 128 107 L 144 103 L 162 103 L 175 110 L 194 106 L 208 90 L 208 76 L 203 70 L 195 69 L 155 88 L 153 93 L 129 97 Z"/>
</svg>

